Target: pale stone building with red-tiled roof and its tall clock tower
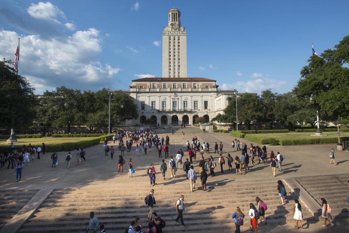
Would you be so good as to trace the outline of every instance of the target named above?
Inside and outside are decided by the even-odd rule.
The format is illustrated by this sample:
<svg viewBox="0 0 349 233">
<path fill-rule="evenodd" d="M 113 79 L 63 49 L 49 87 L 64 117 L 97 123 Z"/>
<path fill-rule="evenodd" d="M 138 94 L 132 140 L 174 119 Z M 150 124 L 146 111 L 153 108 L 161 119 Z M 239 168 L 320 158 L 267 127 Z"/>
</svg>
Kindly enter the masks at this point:
<svg viewBox="0 0 349 233">
<path fill-rule="evenodd" d="M 170 9 L 162 33 L 162 77 L 132 80 L 130 95 L 138 105 L 139 119 L 126 125 L 195 124 L 210 122 L 227 107 L 236 90 L 219 90 L 216 80 L 187 77 L 187 33 L 180 24 L 180 11 Z"/>
</svg>

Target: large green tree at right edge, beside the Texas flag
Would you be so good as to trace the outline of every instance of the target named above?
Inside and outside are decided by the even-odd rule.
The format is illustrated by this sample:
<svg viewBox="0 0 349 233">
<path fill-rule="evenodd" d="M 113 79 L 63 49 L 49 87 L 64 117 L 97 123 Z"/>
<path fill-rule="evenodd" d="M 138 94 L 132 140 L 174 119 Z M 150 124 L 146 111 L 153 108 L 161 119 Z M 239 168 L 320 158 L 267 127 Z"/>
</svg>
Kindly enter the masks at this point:
<svg viewBox="0 0 349 233">
<path fill-rule="evenodd" d="M 294 91 L 298 99 L 312 101 L 323 116 L 337 119 L 349 115 L 349 36 L 334 48 L 310 57 Z"/>
</svg>

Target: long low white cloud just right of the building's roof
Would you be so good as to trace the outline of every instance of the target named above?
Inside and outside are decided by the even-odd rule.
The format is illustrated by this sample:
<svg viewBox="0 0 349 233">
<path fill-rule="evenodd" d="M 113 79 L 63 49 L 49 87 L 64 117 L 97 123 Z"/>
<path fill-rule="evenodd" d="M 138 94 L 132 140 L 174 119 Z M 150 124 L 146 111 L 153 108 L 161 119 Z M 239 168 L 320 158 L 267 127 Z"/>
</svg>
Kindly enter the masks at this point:
<svg viewBox="0 0 349 233">
<path fill-rule="evenodd" d="M 256 79 L 248 81 L 237 81 L 235 84 L 223 83 L 223 89 L 238 89 L 242 93 L 261 93 L 263 90 L 272 89 L 279 90 L 283 85 L 287 84 L 287 81 L 278 81 L 275 79 Z"/>
</svg>

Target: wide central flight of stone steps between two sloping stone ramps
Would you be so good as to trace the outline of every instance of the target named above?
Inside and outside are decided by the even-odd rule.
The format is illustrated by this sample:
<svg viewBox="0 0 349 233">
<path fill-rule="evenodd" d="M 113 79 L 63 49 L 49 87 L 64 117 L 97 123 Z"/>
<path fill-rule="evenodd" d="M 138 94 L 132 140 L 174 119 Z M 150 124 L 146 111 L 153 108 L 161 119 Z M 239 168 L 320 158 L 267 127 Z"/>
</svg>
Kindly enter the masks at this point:
<svg viewBox="0 0 349 233">
<path fill-rule="evenodd" d="M 144 204 L 144 197 L 151 188 L 107 186 L 55 189 L 18 232 L 85 232 L 90 211 L 95 212 L 108 233 L 125 232 L 136 217 L 140 217 L 142 224 L 147 226 L 149 208 Z M 208 182 L 207 192 L 201 187 L 190 192 L 189 182 L 186 185 L 155 185 L 154 211 L 166 221 L 163 228 L 166 233 L 217 232 L 235 228 L 231 214 L 236 206 L 240 206 L 247 215 L 243 226 L 246 228 L 250 222 L 249 204 L 255 204 L 255 197 L 259 196 L 268 205 L 268 226 L 294 224 L 292 205 L 295 195 L 289 193 L 289 202 L 281 205 L 276 188 L 275 182 L 268 180 Z M 286 189 L 290 191 L 288 187 Z M 185 195 L 187 210 L 184 211 L 184 222 L 187 228 L 174 222 L 177 217 L 174 205 L 180 194 Z M 305 207 L 303 215 L 308 221 L 317 220 Z M 263 226 L 264 223 L 261 224 Z"/>
</svg>

